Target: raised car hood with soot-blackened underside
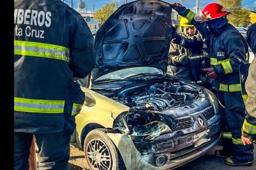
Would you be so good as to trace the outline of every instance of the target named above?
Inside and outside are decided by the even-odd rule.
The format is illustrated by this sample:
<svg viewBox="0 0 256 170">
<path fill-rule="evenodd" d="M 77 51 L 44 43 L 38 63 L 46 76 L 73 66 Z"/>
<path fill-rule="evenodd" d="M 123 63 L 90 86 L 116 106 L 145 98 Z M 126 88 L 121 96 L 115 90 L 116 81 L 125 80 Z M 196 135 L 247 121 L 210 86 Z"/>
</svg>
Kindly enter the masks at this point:
<svg viewBox="0 0 256 170">
<path fill-rule="evenodd" d="M 171 4 L 159 0 L 120 6 L 96 33 L 94 75 L 136 66 L 156 67 L 165 73 L 172 39 L 171 11 Z"/>
</svg>

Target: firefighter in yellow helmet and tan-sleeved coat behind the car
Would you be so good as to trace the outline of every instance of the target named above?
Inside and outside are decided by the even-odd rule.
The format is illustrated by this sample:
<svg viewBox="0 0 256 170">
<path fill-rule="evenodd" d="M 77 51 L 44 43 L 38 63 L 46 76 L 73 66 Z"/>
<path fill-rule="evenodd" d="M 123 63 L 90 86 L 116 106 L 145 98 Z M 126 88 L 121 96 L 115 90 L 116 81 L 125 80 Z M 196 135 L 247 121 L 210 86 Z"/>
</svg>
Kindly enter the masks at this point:
<svg viewBox="0 0 256 170">
<path fill-rule="evenodd" d="M 168 56 L 170 73 L 184 80 L 202 84 L 201 63 L 204 57 L 202 35 L 184 17 L 180 19 L 180 30 L 182 33 L 179 44 L 175 44 L 174 38 L 170 45 Z M 190 40 L 190 44 L 185 43 L 187 39 Z"/>
</svg>

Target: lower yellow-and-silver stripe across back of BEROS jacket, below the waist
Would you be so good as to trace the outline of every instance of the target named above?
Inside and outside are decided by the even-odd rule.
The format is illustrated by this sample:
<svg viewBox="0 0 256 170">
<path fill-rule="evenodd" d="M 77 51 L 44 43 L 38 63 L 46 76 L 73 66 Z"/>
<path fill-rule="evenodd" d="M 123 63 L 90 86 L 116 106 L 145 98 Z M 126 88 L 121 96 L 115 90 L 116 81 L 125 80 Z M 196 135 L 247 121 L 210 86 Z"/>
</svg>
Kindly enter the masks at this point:
<svg viewBox="0 0 256 170">
<path fill-rule="evenodd" d="M 30 113 L 63 113 L 64 100 L 38 100 L 14 97 L 14 111 Z"/>
</svg>

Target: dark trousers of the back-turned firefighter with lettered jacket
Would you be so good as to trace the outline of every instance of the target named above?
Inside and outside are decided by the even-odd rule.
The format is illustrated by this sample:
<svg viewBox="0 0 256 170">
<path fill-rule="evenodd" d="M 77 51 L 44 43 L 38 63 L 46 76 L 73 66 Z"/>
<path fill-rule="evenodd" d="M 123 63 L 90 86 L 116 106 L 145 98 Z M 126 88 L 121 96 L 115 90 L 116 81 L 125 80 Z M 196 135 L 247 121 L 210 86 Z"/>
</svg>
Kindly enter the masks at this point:
<svg viewBox="0 0 256 170">
<path fill-rule="evenodd" d="M 33 135 L 38 146 L 39 169 L 70 170 L 68 164 L 71 135 L 57 133 L 32 134 L 14 132 L 14 170 L 27 170 Z"/>
</svg>

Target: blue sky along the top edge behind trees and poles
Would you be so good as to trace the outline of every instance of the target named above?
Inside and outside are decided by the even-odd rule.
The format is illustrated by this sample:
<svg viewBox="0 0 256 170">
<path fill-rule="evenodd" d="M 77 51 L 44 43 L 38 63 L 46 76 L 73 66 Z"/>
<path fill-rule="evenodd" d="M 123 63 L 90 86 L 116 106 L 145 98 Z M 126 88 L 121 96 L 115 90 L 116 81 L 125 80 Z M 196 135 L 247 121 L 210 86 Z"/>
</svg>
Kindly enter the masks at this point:
<svg viewBox="0 0 256 170">
<path fill-rule="evenodd" d="M 73 4 L 74 4 L 74 8 L 77 10 L 77 6 L 78 6 L 78 1 L 80 0 L 73 0 Z M 93 13 L 93 4 L 94 4 L 94 9 L 95 11 L 99 10 L 100 8 L 102 8 L 105 4 L 111 3 L 111 2 L 115 2 L 118 5 L 122 5 L 123 4 L 123 0 L 82 0 L 85 2 L 85 4 L 87 5 L 87 12 L 91 12 Z M 132 2 L 134 0 L 127 0 L 128 2 Z M 193 9 L 196 6 L 196 0 L 186 0 L 185 2 L 180 2 L 179 0 L 164 0 L 168 3 L 172 3 L 172 2 L 179 2 L 180 4 L 184 5 L 185 7 L 189 8 L 189 9 Z M 232 1 L 232 0 L 230 0 Z M 66 4 L 68 4 L 69 6 L 71 6 L 71 0 L 64 0 L 64 2 Z M 216 0 L 199 0 L 199 8 L 203 8 L 205 5 L 210 4 L 216 2 Z M 256 0 L 243 0 L 243 8 L 251 8 L 256 6 Z M 85 9 L 79 9 L 80 12 L 85 12 Z M 94 11 L 94 12 L 95 12 Z"/>
</svg>

